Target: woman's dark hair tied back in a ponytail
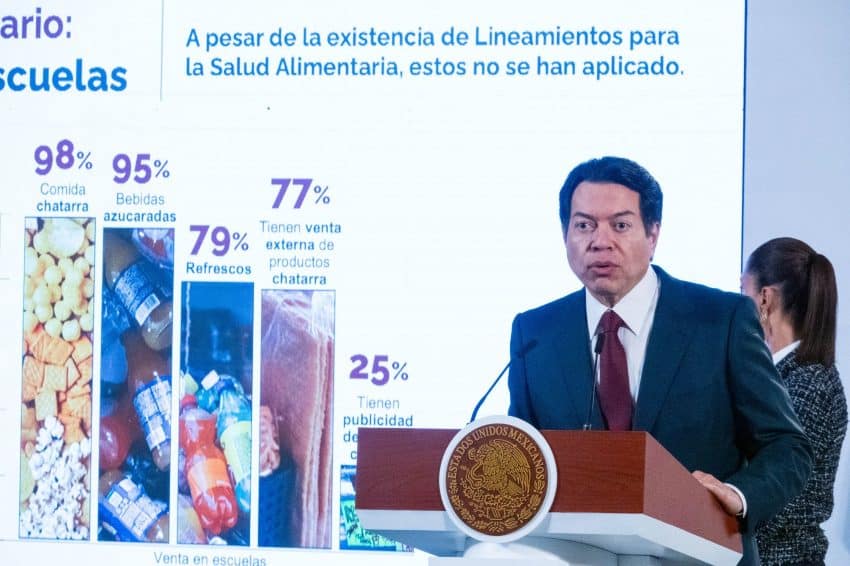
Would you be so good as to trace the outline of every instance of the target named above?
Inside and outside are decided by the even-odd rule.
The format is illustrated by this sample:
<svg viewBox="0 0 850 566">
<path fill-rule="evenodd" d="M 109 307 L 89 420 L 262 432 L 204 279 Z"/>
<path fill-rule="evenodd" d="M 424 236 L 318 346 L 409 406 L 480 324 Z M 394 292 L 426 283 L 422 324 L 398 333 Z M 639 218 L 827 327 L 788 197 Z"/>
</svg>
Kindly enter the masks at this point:
<svg viewBox="0 0 850 566">
<path fill-rule="evenodd" d="M 782 310 L 800 340 L 797 360 L 831 366 L 835 362 L 838 286 L 829 260 L 805 242 L 776 238 L 750 254 L 744 273 L 753 277 L 756 289 L 779 289 Z"/>
</svg>

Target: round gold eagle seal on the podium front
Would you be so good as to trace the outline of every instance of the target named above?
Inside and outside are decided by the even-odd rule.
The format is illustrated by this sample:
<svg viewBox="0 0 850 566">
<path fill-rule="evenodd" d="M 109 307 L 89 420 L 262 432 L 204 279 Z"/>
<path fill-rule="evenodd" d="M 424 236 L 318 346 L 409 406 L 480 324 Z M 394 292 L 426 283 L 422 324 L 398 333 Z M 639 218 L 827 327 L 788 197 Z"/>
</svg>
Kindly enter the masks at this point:
<svg viewBox="0 0 850 566">
<path fill-rule="evenodd" d="M 473 429 L 458 442 L 449 457 L 445 485 L 461 521 L 482 534 L 501 536 L 535 517 L 548 480 L 534 439 L 512 425 L 491 424 Z"/>
</svg>

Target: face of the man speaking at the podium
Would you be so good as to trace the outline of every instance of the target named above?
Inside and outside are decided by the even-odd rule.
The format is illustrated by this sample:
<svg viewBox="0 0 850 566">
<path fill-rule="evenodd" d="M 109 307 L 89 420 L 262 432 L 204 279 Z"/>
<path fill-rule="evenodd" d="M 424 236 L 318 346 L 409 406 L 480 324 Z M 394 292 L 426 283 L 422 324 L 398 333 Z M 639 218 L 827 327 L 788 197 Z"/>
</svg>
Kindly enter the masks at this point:
<svg viewBox="0 0 850 566">
<path fill-rule="evenodd" d="M 617 183 L 584 181 L 564 232 L 567 259 L 590 294 L 613 307 L 646 274 L 659 225 L 644 229 L 640 196 Z"/>
</svg>

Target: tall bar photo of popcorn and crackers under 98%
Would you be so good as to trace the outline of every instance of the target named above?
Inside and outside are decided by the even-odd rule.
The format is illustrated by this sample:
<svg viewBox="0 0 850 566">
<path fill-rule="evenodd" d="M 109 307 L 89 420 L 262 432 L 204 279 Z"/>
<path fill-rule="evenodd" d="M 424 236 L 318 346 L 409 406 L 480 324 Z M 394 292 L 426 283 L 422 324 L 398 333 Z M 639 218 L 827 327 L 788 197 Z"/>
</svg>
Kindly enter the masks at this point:
<svg viewBox="0 0 850 566">
<path fill-rule="evenodd" d="M 95 222 L 25 219 L 21 538 L 89 538 Z"/>
</svg>

